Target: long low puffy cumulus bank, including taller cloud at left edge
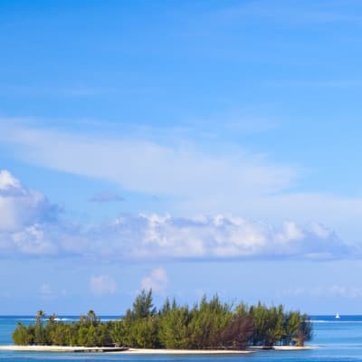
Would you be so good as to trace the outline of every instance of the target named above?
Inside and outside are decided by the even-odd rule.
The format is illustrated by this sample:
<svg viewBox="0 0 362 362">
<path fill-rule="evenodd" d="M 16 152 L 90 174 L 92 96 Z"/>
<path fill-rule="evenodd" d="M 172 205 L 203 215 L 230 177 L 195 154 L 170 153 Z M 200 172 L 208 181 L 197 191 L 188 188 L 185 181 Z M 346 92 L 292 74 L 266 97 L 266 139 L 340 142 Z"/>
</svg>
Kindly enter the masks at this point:
<svg viewBox="0 0 362 362">
<path fill-rule="evenodd" d="M 28 190 L 7 170 L 0 171 L 0 250 L 3 255 L 77 255 L 113 261 L 328 260 L 355 252 L 321 224 L 285 221 L 274 227 L 231 214 L 124 214 L 108 223 L 75 224 L 60 217 L 60 208 L 45 195 Z M 150 278 L 154 281 L 157 275 Z"/>
</svg>

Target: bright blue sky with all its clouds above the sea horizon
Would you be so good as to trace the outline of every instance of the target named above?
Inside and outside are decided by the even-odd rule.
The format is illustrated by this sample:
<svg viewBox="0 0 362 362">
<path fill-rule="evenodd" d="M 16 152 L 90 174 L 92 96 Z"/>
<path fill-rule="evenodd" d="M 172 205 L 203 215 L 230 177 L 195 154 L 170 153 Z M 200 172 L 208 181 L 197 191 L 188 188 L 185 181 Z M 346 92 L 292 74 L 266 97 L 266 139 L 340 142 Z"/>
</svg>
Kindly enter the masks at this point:
<svg viewBox="0 0 362 362">
<path fill-rule="evenodd" d="M 358 313 L 359 1 L 1 1 L 0 314 Z"/>
</svg>

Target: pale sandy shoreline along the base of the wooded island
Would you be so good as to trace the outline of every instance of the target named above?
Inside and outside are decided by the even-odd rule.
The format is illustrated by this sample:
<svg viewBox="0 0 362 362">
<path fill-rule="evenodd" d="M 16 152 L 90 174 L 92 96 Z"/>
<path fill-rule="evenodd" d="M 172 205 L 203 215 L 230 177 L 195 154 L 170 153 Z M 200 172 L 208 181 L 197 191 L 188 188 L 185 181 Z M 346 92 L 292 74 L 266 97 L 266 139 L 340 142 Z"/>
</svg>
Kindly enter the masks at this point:
<svg viewBox="0 0 362 362">
<path fill-rule="evenodd" d="M 112 353 L 112 354 L 139 354 L 139 355 L 243 355 L 256 352 L 294 351 L 314 349 L 314 346 L 274 346 L 272 349 L 262 347 L 248 347 L 244 350 L 235 349 L 166 349 L 166 348 L 106 348 L 106 347 L 71 347 L 71 346 L 0 346 L 0 351 L 22 352 L 83 352 L 83 353 Z"/>
</svg>

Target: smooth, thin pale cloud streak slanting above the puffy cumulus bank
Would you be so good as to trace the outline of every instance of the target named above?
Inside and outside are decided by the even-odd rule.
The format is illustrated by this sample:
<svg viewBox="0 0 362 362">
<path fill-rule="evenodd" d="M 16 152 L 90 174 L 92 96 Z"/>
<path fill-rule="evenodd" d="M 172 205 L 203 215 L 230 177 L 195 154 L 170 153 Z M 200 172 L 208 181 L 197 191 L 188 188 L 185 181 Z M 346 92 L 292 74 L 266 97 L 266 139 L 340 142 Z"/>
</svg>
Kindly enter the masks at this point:
<svg viewBox="0 0 362 362">
<path fill-rule="evenodd" d="M 43 129 L 4 128 L 0 140 L 36 165 L 118 183 L 129 191 L 184 200 L 213 196 L 229 202 L 290 186 L 291 167 L 242 148 L 205 152 L 195 144 L 136 138 L 93 138 Z M 56 145 L 56 147 L 54 147 Z M 117 165 L 117 167 L 115 167 Z"/>
</svg>

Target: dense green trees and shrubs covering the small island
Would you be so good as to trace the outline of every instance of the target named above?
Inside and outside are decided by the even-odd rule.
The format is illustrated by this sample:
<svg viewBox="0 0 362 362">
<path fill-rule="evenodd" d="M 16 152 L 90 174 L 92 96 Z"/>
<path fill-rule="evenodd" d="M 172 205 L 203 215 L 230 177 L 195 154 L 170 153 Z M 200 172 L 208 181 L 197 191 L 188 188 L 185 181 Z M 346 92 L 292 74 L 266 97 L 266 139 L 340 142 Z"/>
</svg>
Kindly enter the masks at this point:
<svg viewBox="0 0 362 362">
<path fill-rule="evenodd" d="M 142 291 L 123 319 L 100 322 L 90 310 L 79 321 L 66 323 L 42 310 L 35 324 L 18 323 L 13 339 L 16 345 L 110 346 L 133 348 L 237 348 L 252 346 L 303 346 L 312 337 L 310 320 L 299 311 L 261 303 L 235 308 L 215 295 L 205 297 L 192 308 L 176 300 L 165 301 L 157 310 L 152 291 Z"/>
</svg>

